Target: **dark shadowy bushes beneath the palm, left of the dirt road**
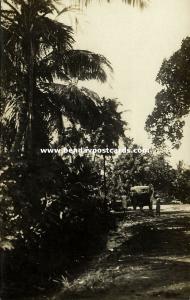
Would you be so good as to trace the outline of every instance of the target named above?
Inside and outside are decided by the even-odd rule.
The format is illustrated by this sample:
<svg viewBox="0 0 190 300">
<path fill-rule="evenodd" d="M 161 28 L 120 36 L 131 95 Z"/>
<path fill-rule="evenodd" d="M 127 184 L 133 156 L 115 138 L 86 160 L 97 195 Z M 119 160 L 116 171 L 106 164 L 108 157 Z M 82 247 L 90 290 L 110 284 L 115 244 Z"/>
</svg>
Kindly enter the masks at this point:
<svg viewBox="0 0 190 300">
<path fill-rule="evenodd" d="M 111 218 L 90 159 L 76 157 L 72 164 L 44 159 L 35 166 L 8 159 L 1 179 L 3 236 L 12 237 L 7 282 L 18 288 L 50 286 L 49 280 L 73 272 L 103 246 Z"/>
</svg>

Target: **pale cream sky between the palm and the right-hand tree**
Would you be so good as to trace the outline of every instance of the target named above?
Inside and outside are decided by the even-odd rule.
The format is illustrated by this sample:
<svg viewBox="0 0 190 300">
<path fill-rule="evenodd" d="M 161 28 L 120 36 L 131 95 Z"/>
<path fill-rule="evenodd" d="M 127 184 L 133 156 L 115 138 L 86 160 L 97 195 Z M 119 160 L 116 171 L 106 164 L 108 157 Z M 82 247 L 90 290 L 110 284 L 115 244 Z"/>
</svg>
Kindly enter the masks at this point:
<svg viewBox="0 0 190 300">
<path fill-rule="evenodd" d="M 100 96 L 118 99 L 120 110 L 126 111 L 123 118 L 129 123 L 128 134 L 145 148 L 151 147 L 145 121 L 162 88 L 155 81 L 156 75 L 163 59 L 169 58 L 190 35 L 189 12 L 190 0 L 150 0 L 143 11 L 113 0 L 111 4 L 92 1 L 77 13 L 75 48 L 105 55 L 114 69 L 106 84 L 90 81 L 83 85 Z M 178 160 L 190 165 L 189 132 L 190 117 L 180 149 L 171 151 L 174 165 Z"/>
</svg>

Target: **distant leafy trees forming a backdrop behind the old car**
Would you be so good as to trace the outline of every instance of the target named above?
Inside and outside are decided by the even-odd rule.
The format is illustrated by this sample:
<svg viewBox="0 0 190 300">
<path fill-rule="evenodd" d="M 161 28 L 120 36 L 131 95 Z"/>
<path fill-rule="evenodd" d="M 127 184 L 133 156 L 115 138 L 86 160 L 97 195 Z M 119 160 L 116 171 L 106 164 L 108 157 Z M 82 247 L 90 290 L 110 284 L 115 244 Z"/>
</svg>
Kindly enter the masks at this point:
<svg viewBox="0 0 190 300">
<path fill-rule="evenodd" d="M 134 153 L 133 149 L 140 147 L 130 140 L 127 148 L 131 153 L 119 155 L 109 168 L 108 196 L 111 200 L 123 193 L 129 195 L 131 186 L 153 184 L 155 192 L 168 200 L 177 198 L 183 203 L 190 202 L 190 169 L 183 161 L 174 168 L 165 153 Z"/>
</svg>

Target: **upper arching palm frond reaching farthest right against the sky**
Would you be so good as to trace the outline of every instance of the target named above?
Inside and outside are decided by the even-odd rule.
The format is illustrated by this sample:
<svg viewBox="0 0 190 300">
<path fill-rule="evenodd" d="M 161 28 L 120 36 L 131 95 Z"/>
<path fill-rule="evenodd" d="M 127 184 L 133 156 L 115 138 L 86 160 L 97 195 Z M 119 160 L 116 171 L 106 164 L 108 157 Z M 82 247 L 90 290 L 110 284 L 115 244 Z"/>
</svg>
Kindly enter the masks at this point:
<svg viewBox="0 0 190 300">
<path fill-rule="evenodd" d="M 105 82 L 108 70 L 113 72 L 111 63 L 103 55 L 87 50 L 55 50 L 39 62 L 38 73 L 50 82 L 54 76 L 64 81 L 95 79 Z"/>
</svg>

